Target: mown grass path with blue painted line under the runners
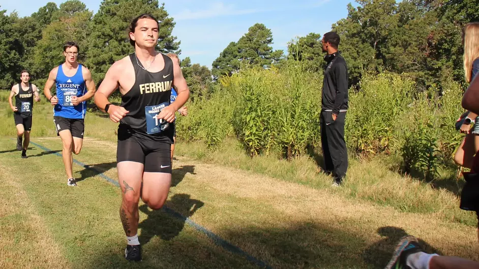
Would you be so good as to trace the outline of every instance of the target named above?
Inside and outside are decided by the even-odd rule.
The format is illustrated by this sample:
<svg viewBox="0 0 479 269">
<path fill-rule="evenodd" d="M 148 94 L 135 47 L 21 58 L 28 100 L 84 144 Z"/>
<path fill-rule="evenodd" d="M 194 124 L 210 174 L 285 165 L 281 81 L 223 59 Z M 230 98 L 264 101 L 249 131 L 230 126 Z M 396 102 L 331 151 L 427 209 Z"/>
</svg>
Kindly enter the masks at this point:
<svg viewBox="0 0 479 269">
<path fill-rule="evenodd" d="M 58 138 L 33 141 L 61 149 Z M 21 159 L 14 147 L 0 139 L 2 268 L 257 267 L 144 205 L 143 261 L 127 263 L 118 188 L 78 165 L 74 176 L 82 181 L 67 187 L 61 157 L 32 146 Z M 116 179 L 115 150 L 114 143 L 86 138 L 75 158 Z M 479 259 L 471 226 L 182 156 L 166 205 L 274 268 L 382 268 L 406 233 L 442 254 Z"/>
</svg>

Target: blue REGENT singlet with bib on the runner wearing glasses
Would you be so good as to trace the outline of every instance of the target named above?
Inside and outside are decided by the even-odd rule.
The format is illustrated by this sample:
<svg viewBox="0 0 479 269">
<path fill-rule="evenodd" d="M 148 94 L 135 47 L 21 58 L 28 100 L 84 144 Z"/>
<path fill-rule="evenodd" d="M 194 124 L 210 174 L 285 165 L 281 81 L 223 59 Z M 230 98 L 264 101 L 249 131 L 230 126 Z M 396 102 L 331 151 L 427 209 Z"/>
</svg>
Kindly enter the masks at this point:
<svg viewBox="0 0 479 269">
<path fill-rule="evenodd" d="M 86 101 L 73 106 L 72 96 L 83 96 L 86 93 L 85 80 L 81 72 L 82 65 L 78 64 L 78 69 L 73 77 L 65 76 L 63 73 L 63 64 L 58 66 L 56 74 L 56 97 L 58 104 L 53 108 L 53 115 L 68 119 L 84 119 L 86 114 Z"/>
</svg>

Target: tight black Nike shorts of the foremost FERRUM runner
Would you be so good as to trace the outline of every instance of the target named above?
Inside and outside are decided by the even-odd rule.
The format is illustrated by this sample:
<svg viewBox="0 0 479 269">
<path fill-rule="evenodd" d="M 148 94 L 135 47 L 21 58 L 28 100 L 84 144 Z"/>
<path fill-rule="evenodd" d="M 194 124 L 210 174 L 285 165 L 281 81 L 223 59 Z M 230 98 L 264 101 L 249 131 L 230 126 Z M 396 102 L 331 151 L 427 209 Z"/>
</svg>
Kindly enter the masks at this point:
<svg viewBox="0 0 479 269">
<path fill-rule="evenodd" d="M 116 162 L 122 161 L 143 163 L 144 172 L 171 174 L 171 144 L 119 127 Z"/>
</svg>

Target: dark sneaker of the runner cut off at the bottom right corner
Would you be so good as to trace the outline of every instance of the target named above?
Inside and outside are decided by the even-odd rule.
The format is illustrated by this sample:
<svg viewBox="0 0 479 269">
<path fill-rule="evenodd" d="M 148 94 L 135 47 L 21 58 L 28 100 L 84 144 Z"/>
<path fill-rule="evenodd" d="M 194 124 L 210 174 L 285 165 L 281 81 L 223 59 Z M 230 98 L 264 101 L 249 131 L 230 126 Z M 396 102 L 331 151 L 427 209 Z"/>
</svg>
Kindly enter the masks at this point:
<svg viewBox="0 0 479 269">
<path fill-rule="evenodd" d="M 419 246 L 417 238 L 413 236 L 403 237 L 394 250 L 393 257 L 384 269 L 411 269 L 411 267 L 406 265 L 407 256 L 417 252 L 424 252 L 421 246 Z"/>
</svg>

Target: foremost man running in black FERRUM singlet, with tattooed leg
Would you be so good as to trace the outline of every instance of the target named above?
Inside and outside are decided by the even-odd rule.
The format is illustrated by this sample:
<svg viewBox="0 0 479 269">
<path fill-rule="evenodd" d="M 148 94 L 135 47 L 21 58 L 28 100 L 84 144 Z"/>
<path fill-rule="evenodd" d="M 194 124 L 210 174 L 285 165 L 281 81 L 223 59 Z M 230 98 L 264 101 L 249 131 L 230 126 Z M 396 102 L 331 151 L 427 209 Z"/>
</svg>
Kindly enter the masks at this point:
<svg viewBox="0 0 479 269">
<path fill-rule="evenodd" d="M 143 14 L 130 23 L 130 43 L 135 53 L 111 65 L 95 94 L 95 104 L 119 122 L 116 162 L 122 189 L 120 218 L 128 245 L 127 260 L 141 260 L 137 237 L 138 202 L 160 209 L 171 184 L 170 148 L 173 143 L 169 123 L 188 100 L 190 91 L 177 62 L 155 51 L 158 20 Z M 178 96 L 169 104 L 171 87 Z M 121 106 L 108 102 L 118 88 Z"/>
</svg>

